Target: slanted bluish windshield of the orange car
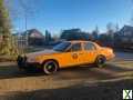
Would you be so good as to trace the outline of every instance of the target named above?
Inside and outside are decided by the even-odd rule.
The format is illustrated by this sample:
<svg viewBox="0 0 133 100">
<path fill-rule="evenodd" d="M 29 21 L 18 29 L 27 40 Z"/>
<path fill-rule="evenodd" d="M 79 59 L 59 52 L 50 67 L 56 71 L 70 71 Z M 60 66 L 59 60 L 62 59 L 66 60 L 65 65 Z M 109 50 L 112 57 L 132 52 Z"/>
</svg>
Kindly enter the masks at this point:
<svg viewBox="0 0 133 100">
<path fill-rule="evenodd" d="M 70 46 L 71 43 L 70 42 L 62 42 L 62 43 L 59 43 L 58 46 L 53 47 L 53 50 L 55 51 L 65 51 L 66 48 Z"/>
</svg>

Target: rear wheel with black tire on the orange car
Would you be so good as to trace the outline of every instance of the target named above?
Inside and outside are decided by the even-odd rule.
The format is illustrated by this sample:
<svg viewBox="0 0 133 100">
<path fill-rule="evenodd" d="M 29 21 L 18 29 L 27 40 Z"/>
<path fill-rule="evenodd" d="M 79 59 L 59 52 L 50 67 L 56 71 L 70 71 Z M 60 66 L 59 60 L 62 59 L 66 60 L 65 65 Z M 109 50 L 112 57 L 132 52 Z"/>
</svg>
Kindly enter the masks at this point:
<svg viewBox="0 0 133 100">
<path fill-rule="evenodd" d="M 95 66 L 96 66 L 98 68 L 105 67 L 105 61 L 106 61 L 105 57 L 99 56 L 99 57 L 96 58 L 96 60 L 95 60 Z"/>
</svg>

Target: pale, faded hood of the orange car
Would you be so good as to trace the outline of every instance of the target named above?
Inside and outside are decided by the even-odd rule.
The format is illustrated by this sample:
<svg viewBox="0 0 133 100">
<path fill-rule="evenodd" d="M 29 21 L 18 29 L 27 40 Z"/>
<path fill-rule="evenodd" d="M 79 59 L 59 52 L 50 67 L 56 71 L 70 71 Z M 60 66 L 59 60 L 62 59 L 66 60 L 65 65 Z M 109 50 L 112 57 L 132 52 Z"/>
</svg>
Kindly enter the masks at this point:
<svg viewBox="0 0 133 100">
<path fill-rule="evenodd" d="M 41 54 L 52 54 L 52 53 L 58 53 L 58 51 L 48 49 L 48 50 L 43 50 L 43 51 L 28 53 L 27 57 L 37 57 L 37 56 L 41 56 Z"/>
</svg>

